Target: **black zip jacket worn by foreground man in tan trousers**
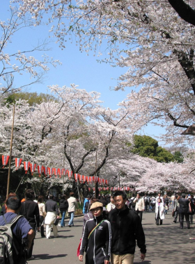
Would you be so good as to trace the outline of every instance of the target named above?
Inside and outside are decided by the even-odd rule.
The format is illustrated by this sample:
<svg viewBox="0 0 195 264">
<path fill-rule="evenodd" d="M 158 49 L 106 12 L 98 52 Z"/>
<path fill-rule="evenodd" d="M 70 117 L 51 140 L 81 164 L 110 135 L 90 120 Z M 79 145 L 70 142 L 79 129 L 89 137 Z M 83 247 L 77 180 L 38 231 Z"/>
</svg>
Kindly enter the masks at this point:
<svg viewBox="0 0 195 264">
<path fill-rule="evenodd" d="M 134 254 L 136 240 L 141 253 L 146 253 L 145 235 L 139 215 L 126 208 L 119 211 L 116 208 L 110 211 L 111 223 L 111 253 L 116 255 Z"/>
</svg>

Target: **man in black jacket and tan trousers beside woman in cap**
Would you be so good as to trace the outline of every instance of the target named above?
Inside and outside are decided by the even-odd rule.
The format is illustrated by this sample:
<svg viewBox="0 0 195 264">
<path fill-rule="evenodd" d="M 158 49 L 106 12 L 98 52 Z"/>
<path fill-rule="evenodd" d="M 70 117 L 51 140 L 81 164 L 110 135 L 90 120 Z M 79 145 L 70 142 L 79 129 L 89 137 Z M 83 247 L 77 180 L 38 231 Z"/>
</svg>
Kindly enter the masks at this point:
<svg viewBox="0 0 195 264">
<path fill-rule="evenodd" d="M 141 251 L 141 260 L 146 257 L 145 235 L 139 215 L 127 208 L 125 192 L 117 191 L 114 194 L 116 208 L 110 211 L 111 223 L 111 263 L 121 264 L 134 262 L 134 251 L 137 245 Z M 126 261 L 126 262 L 125 262 Z"/>
</svg>

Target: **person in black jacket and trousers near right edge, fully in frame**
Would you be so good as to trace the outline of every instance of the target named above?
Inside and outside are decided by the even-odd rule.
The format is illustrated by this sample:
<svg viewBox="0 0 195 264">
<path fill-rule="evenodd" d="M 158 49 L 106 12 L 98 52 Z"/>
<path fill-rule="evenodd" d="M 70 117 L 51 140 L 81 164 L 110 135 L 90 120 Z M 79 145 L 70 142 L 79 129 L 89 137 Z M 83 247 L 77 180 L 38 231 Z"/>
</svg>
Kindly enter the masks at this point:
<svg viewBox="0 0 195 264">
<path fill-rule="evenodd" d="M 182 193 L 182 197 L 178 200 L 180 204 L 180 229 L 183 229 L 183 220 L 185 216 L 187 229 L 189 229 L 189 200 L 185 199 L 185 193 Z"/>
</svg>

